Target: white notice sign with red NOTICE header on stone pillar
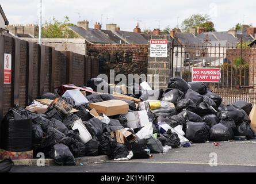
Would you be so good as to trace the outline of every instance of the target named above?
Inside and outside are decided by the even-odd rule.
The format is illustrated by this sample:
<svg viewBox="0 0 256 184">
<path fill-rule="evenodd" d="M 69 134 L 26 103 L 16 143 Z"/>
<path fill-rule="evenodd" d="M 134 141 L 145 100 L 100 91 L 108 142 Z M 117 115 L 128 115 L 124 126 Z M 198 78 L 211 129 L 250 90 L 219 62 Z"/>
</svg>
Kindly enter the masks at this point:
<svg viewBox="0 0 256 184">
<path fill-rule="evenodd" d="M 150 57 L 167 57 L 167 40 L 150 40 Z"/>
</svg>

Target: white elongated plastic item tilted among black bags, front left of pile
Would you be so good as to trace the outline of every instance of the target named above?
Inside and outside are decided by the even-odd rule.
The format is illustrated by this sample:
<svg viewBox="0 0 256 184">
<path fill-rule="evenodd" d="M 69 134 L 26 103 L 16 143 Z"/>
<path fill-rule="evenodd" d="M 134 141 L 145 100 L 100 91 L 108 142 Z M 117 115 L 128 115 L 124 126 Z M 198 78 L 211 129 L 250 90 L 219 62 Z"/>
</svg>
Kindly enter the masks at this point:
<svg viewBox="0 0 256 184">
<path fill-rule="evenodd" d="M 74 125 L 72 126 L 72 130 L 78 129 L 79 131 L 79 137 L 82 140 L 83 143 L 88 143 L 93 137 L 91 137 L 90 133 L 86 129 L 86 127 L 83 125 L 82 120 L 79 119 L 74 122 Z"/>
</svg>

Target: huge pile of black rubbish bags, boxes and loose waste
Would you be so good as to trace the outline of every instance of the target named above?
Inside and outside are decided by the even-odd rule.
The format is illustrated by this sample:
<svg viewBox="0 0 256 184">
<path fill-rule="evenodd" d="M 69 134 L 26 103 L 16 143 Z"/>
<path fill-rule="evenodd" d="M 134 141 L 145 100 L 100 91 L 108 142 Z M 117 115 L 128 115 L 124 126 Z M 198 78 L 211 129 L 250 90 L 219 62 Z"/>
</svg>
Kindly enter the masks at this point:
<svg viewBox="0 0 256 184">
<path fill-rule="evenodd" d="M 59 165 L 74 165 L 81 156 L 150 158 L 192 143 L 255 138 L 248 117 L 252 104 L 224 105 L 201 82 L 171 78 L 163 91 L 145 82 L 113 87 L 93 78 L 84 88 L 69 87 L 38 97 L 26 110 L 10 108 L 2 132 L 12 131 L 1 134 L 1 149 L 43 152 Z M 95 92 L 104 87 L 108 93 Z M 124 89 L 133 94 L 121 94 Z"/>
</svg>

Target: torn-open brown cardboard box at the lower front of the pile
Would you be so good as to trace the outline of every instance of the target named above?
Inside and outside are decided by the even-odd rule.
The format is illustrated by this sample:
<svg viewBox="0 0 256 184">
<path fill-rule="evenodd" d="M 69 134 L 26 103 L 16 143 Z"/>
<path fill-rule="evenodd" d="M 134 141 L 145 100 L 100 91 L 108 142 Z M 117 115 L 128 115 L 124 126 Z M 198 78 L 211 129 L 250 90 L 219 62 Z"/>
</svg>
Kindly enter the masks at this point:
<svg viewBox="0 0 256 184">
<path fill-rule="evenodd" d="M 111 137 L 116 139 L 117 143 L 125 144 L 125 140 L 128 143 L 136 140 L 136 136 L 131 132 L 126 131 L 125 129 L 117 130 L 115 132 L 111 132 Z"/>
</svg>

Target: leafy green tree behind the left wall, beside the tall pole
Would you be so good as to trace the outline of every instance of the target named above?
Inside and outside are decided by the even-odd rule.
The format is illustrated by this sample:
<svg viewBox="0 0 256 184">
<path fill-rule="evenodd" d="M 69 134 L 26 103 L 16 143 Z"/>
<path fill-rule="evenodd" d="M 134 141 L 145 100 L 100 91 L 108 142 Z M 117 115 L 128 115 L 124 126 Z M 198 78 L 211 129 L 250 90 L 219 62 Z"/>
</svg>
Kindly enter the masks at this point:
<svg viewBox="0 0 256 184">
<path fill-rule="evenodd" d="M 68 29 L 68 25 L 75 26 L 74 24 L 68 23 L 70 19 L 65 16 L 64 21 L 60 22 L 56 20 L 55 17 L 52 17 L 48 22 L 45 22 L 45 25 L 42 29 L 42 37 L 45 38 L 77 38 L 77 34 Z"/>
</svg>

